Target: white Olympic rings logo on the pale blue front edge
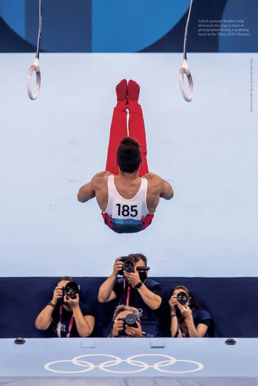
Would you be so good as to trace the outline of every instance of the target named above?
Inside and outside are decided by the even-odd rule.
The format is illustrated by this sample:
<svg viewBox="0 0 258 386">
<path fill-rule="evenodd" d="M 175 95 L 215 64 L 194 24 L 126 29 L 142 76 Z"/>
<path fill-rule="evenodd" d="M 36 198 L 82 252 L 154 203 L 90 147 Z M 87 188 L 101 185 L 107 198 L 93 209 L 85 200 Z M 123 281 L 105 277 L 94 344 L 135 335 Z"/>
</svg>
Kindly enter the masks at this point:
<svg viewBox="0 0 258 386">
<path fill-rule="evenodd" d="M 157 362 L 154 365 L 148 365 L 146 362 L 137 360 L 140 357 L 163 357 L 166 358 L 166 360 L 163 360 L 161 362 Z M 112 358 L 112 360 L 100 363 L 99 365 L 94 365 L 92 362 L 88 362 L 87 360 L 83 360 L 84 358 L 89 357 L 108 357 Z M 137 359 L 136 359 L 137 358 Z M 62 371 L 62 370 L 55 370 L 52 366 L 57 363 L 73 363 L 76 366 L 80 367 L 86 367 L 82 370 L 75 370 L 75 371 Z M 167 369 L 166 367 L 172 366 L 175 363 L 178 362 L 184 362 L 184 363 L 191 363 L 193 365 L 196 365 L 192 370 L 186 370 L 186 371 L 173 371 L 170 369 Z M 137 369 L 127 371 L 127 370 L 112 370 L 111 367 L 113 366 L 119 366 L 122 363 L 127 363 L 128 365 L 138 367 Z M 195 361 L 189 361 L 185 359 L 176 359 L 174 357 L 171 357 L 169 355 L 164 354 L 138 354 L 130 356 L 127 359 L 121 359 L 115 355 L 108 355 L 108 354 L 87 354 L 87 355 L 79 355 L 77 357 L 74 357 L 73 359 L 65 359 L 61 361 L 55 361 L 55 362 L 49 362 L 47 363 L 44 368 L 48 371 L 52 371 L 55 373 L 62 373 L 62 374 L 77 374 L 77 373 L 85 373 L 88 371 L 92 371 L 94 368 L 99 368 L 102 371 L 106 371 L 109 373 L 116 373 L 116 374 L 132 374 L 132 373 L 140 373 L 143 371 L 148 370 L 149 368 L 153 368 L 154 370 L 163 372 L 163 373 L 169 373 L 169 374 L 184 374 L 184 373 L 190 373 L 195 372 L 203 369 L 203 364 Z"/>
</svg>

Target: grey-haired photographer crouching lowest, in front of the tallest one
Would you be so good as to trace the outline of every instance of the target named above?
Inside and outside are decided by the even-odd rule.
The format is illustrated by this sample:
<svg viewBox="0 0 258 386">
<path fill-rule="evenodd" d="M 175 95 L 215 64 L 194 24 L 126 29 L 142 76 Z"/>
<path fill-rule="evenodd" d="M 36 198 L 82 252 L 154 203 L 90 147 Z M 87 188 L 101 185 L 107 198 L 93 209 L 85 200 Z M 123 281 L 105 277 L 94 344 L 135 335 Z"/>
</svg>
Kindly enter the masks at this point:
<svg viewBox="0 0 258 386">
<path fill-rule="evenodd" d="M 142 330 L 140 316 L 139 310 L 134 307 L 117 306 L 109 338 L 153 338 Z"/>
</svg>

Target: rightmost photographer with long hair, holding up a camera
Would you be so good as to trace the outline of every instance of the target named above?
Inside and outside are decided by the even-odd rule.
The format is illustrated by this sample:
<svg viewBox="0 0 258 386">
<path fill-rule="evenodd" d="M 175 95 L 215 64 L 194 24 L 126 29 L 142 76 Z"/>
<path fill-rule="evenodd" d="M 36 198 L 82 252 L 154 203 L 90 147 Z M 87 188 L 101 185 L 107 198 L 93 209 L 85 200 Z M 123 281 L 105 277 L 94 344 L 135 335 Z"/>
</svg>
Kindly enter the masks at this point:
<svg viewBox="0 0 258 386">
<path fill-rule="evenodd" d="M 208 337 L 211 316 L 193 299 L 189 289 L 184 286 L 174 288 L 169 306 L 172 338 Z"/>
</svg>

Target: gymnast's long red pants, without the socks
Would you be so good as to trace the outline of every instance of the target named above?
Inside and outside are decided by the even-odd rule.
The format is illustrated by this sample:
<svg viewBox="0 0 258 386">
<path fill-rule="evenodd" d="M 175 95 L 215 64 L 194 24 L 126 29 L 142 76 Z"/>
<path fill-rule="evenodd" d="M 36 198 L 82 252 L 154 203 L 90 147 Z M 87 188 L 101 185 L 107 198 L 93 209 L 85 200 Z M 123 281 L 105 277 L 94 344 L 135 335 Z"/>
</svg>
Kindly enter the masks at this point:
<svg viewBox="0 0 258 386">
<path fill-rule="evenodd" d="M 143 111 L 138 101 L 136 100 L 128 100 L 128 107 L 126 100 L 118 101 L 116 107 L 114 108 L 110 129 L 110 141 L 106 171 L 115 175 L 119 174 L 119 168 L 115 164 L 116 152 L 121 140 L 125 136 L 128 136 L 127 108 L 129 110 L 129 136 L 136 139 L 139 142 L 141 148 L 142 164 L 140 165 L 139 176 L 142 177 L 144 174 L 148 173 L 147 144 Z M 107 224 L 109 228 L 113 229 L 111 218 L 106 213 L 102 213 L 102 215 L 105 224 Z M 142 219 L 142 230 L 151 224 L 153 216 L 154 214 L 148 214 L 144 219 Z"/>
</svg>

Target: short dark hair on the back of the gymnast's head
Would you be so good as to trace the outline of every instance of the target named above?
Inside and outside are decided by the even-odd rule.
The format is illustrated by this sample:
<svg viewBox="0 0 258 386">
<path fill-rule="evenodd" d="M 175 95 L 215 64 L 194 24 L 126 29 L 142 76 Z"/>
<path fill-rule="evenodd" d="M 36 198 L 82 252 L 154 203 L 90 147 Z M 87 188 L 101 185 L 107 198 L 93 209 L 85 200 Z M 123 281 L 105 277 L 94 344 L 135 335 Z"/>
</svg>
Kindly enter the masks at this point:
<svg viewBox="0 0 258 386">
<path fill-rule="evenodd" d="M 117 148 L 116 159 L 122 173 L 137 172 L 142 160 L 139 142 L 129 136 L 123 138 Z"/>
</svg>

